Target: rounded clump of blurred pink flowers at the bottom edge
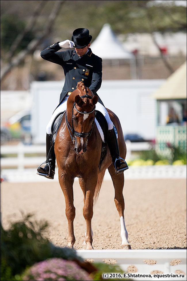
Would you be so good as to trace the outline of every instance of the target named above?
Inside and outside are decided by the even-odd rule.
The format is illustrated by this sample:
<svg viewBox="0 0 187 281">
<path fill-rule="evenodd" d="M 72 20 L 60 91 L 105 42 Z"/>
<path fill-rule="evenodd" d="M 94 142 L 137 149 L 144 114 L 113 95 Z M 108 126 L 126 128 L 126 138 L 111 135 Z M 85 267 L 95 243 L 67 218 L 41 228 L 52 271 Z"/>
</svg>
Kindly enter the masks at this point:
<svg viewBox="0 0 187 281">
<path fill-rule="evenodd" d="M 23 280 L 91 280 L 88 273 L 74 261 L 50 258 L 36 263 L 26 271 Z"/>
</svg>

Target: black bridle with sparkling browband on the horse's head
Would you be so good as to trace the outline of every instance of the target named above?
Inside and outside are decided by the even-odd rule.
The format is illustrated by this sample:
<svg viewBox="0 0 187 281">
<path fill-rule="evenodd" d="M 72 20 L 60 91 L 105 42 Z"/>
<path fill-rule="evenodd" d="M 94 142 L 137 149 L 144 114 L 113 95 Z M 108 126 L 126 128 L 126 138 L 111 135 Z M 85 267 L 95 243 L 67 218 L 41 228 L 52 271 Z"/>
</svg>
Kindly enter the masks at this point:
<svg viewBox="0 0 187 281">
<path fill-rule="evenodd" d="M 89 99 L 91 99 L 92 97 L 89 96 L 89 95 L 82 95 L 81 98 L 89 98 Z M 91 129 L 90 129 L 90 131 L 88 133 L 80 133 L 80 132 L 75 131 L 74 125 L 73 125 L 73 109 L 74 108 L 75 108 L 75 110 L 78 113 L 81 113 L 81 114 L 90 114 L 90 113 L 94 112 L 94 119 L 93 119 L 93 122 L 92 122 L 92 125 L 91 125 Z M 66 111 L 66 125 L 68 127 L 68 131 L 70 133 L 70 137 L 71 137 L 71 140 L 72 140 L 73 143 L 75 142 L 75 136 L 78 136 L 79 138 L 87 138 L 86 142 L 88 142 L 88 139 L 89 139 L 89 137 L 91 135 L 91 132 L 93 130 L 93 125 L 94 125 L 94 122 L 95 122 L 95 115 L 96 115 L 95 109 L 96 109 L 96 106 L 94 106 L 93 110 L 91 110 L 90 112 L 81 112 L 81 111 L 79 111 L 76 108 L 75 102 L 74 102 L 73 108 L 72 108 L 72 117 L 71 117 L 72 127 L 70 126 L 70 123 L 68 122 L 67 111 Z"/>
</svg>

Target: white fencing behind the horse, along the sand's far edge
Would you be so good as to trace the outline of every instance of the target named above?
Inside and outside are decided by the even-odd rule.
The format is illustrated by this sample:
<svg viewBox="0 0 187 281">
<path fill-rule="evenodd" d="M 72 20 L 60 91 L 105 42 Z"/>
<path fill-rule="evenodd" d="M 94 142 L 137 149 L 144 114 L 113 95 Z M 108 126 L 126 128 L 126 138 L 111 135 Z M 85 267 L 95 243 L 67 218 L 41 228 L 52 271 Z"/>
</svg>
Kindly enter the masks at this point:
<svg viewBox="0 0 187 281">
<path fill-rule="evenodd" d="M 131 158 L 134 151 L 150 149 L 149 143 L 128 143 L 128 155 Z M 12 157 L 15 154 L 15 157 Z M 42 156 L 35 156 L 42 154 Z M 45 182 L 45 177 L 36 174 L 36 168 L 45 161 L 45 145 L 3 145 L 1 146 L 1 177 L 9 182 Z M 129 166 L 125 171 L 125 179 L 158 179 L 158 178 L 186 178 L 186 165 L 172 166 Z M 105 179 L 111 177 L 108 170 Z M 58 168 L 56 168 L 55 181 L 58 181 Z"/>
</svg>

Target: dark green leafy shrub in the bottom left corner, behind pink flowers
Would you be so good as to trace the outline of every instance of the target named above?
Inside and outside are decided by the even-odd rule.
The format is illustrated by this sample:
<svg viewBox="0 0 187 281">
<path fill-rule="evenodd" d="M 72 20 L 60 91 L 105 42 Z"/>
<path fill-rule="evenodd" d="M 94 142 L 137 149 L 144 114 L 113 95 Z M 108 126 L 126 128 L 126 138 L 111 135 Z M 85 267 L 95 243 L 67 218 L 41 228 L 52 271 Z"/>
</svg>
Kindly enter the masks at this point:
<svg viewBox="0 0 187 281">
<path fill-rule="evenodd" d="M 11 222 L 7 230 L 0 224 L 2 281 L 15 280 L 15 275 L 21 274 L 26 266 L 32 266 L 47 258 L 62 258 L 83 263 L 83 259 L 77 256 L 75 250 L 56 247 L 49 242 L 46 238 L 47 226 L 46 221 L 37 221 L 33 219 L 33 215 L 24 213 L 22 219 Z M 85 263 L 83 266 L 85 268 Z"/>
</svg>

